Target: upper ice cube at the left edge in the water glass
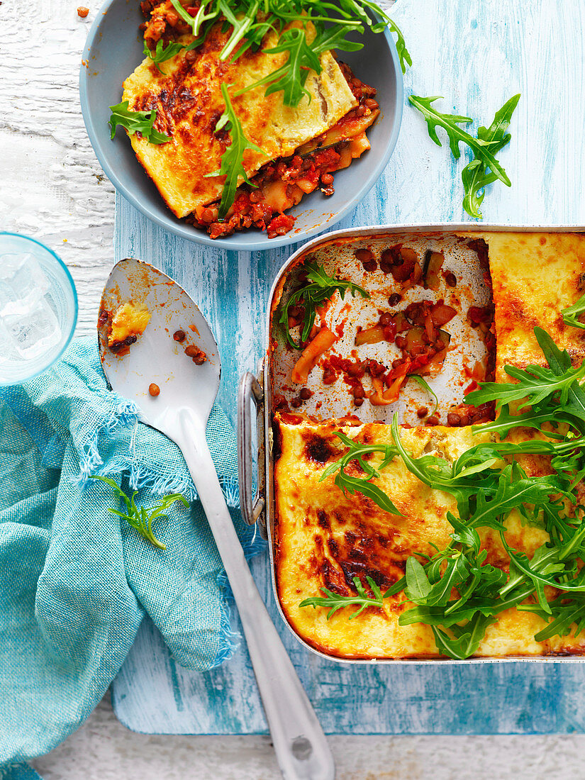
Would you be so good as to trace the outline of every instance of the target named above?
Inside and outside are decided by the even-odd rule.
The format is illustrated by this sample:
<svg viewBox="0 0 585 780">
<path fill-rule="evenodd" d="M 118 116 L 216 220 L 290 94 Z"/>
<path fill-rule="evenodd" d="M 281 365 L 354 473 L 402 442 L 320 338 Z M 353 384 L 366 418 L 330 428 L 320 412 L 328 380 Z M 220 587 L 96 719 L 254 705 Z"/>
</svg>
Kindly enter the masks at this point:
<svg viewBox="0 0 585 780">
<path fill-rule="evenodd" d="M 25 314 L 49 289 L 48 278 L 32 254 L 0 257 L 0 316 Z"/>
</svg>

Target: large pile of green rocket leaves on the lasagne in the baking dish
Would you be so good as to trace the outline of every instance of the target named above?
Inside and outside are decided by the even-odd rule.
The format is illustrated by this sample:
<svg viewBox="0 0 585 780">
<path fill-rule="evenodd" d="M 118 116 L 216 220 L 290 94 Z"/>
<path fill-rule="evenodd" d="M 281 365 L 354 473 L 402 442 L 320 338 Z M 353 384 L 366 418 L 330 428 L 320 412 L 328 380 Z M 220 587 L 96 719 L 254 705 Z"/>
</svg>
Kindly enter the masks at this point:
<svg viewBox="0 0 585 780">
<path fill-rule="evenodd" d="M 446 514 L 452 534 L 445 549 L 431 556 L 411 555 L 405 576 L 384 594 L 372 590 L 374 599 L 367 596 L 378 604 L 380 596 L 383 601 L 403 590 L 413 606 L 402 612 L 399 625 L 422 622 L 431 626 L 438 651 L 451 658 L 468 658 L 477 652 L 488 626 L 512 607 L 534 612 L 548 622 L 535 636 L 537 641 L 573 630 L 576 635 L 585 629 L 585 507 L 578 503 L 575 491 L 585 478 L 585 392 L 580 385 L 585 363 L 573 368 L 569 354 L 558 349 L 550 335 L 541 328 L 535 328 L 535 335 L 548 367 L 506 367 L 515 384 L 484 382 L 467 398 L 475 403 L 500 401 L 495 422 L 476 426 L 474 431 L 495 432 L 505 438 L 516 428 L 531 427 L 541 431 L 543 438 L 517 444 L 485 441 L 453 463 L 431 454 L 415 458 L 400 438 L 395 416 L 394 445 L 360 445 L 338 432 L 348 449 L 321 477 L 336 473 L 335 484 L 340 489 L 363 492 L 385 511 L 392 511 L 388 510 L 390 499 L 372 480 L 399 457 L 422 483 L 456 498 L 458 516 Z M 512 402 L 521 402 L 525 411 L 510 413 Z M 374 452 L 383 456 L 377 466 L 367 460 Z M 523 453 L 549 456 L 552 473 L 527 474 L 516 460 Z M 360 466 L 363 477 L 346 473 L 352 461 Z M 506 537 L 505 521 L 512 511 L 519 512 L 523 523 L 548 534 L 548 541 L 530 558 L 513 548 Z M 481 548 L 478 534 L 486 528 L 499 535 L 509 557 L 509 574 L 487 562 L 488 551 Z M 548 601 L 546 587 L 560 594 Z M 305 599 L 302 605 L 328 607 L 332 612 L 352 604 L 370 605 L 360 601 L 362 590 L 355 601 L 352 596 L 321 590 L 323 596 Z"/>
</svg>

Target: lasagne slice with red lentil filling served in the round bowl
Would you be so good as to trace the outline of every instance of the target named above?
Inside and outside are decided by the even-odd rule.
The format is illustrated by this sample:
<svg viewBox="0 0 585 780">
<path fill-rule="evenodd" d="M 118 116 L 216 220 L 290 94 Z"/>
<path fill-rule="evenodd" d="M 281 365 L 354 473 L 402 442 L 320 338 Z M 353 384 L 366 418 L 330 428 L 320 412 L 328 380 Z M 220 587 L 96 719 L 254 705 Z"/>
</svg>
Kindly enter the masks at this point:
<svg viewBox="0 0 585 780">
<path fill-rule="evenodd" d="M 278 44 L 287 34 L 310 43 L 316 34 L 311 23 L 278 29 L 272 22 L 261 45 L 246 44 L 237 57 L 222 58 L 235 19 L 222 17 L 197 44 L 185 19 L 193 20 L 204 5 L 184 3 L 183 15 L 170 0 L 141 5 L 149 56 L 124 82 L 122 102 L 130 112 L 156 112 L 154 127 L 166 142 L 151 143 L 143 133 L 130 141 L 166 204 L 212 238 L 250 227 L 268 237 L 288 232 L 294 218 L 287 209 L 317 188 L 331 195 L 335 171 L 370 148 L 366 130 L 379 114 L 376 90 L 329 50 L 315 55 L 318 73 L 301 69 L 300 100 L 284 88 L 267 89 L 293 58 Z M 159 64 L 153 58 L 161 46 L 178 51 Z"/>
</svg>

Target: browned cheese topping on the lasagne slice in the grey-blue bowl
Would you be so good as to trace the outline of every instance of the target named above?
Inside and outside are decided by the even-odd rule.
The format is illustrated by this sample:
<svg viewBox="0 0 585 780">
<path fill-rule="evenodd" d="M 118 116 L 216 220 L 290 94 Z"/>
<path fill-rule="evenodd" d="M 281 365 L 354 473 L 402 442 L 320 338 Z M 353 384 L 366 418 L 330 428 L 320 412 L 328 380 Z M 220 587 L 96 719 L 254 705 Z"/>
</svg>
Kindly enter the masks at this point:
<svg viewBox="0 0 585 780">
<path fill-rule="evenodd" d="M 322 72 L 310 71 L 305 86 L 311 99 L 303 97 L 295 108 L 285 106 L 282 91 L 264 95 L 265 86 L 239 97 L 236 93 L 282 66 L 287 53 L 271 55 L 262 51 L 244 52 L 236 62 L 220 62 L 219 54 L 228 34 L 214 27 L 204 44 L 161 63 L 160 73 L 150 58 L 124 82 L 122 100 L 133 111 L 157 110 L 155 128 L 172 137 L 166 144 L 150 144 L 143 137 L 130 137 L 140 163 L 158 187 L 168 207 L 177 217 L 185 217 L 217 200 L 222 194 L 223 176 L 218 171 L 229 138 L 215 135 L 215 126 L 224 110 L 220 85 L 231 85 L 229 93 L 243 133 L 263 154 L 248 150 L 243 164 L 248 176 L 268 160 L 287 157 L 315 136 L 334 126 L 357 101 L 329 51 L 321 55 Z M 179 42 L 189 44 L 193 36 Z M 269 34 L 263 48 L 275 45 Z M 192 62 L 187 55 L 196 58 Z M 239 183 L 243 179 L 240 177 Z"/>
</svg>

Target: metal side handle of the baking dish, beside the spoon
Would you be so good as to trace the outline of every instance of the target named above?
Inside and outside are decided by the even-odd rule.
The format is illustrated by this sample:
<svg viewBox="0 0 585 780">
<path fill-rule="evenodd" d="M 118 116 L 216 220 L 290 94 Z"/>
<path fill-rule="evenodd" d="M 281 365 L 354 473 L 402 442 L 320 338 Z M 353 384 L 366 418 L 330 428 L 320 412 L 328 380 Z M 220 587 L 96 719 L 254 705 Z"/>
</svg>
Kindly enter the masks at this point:
<svg viewBox="0 0 585 780">
<path fill-rule="evenodd" d="M 258 468 L 256 495 L 252 492 L 252 473 L 254 458 L 252 457 L 252 413 L 251 402 L 256 410 L 256 430 L 258 439 Z M 249 526 L 258 521 L 261 536 L 266 539 L 266 507 L 265 474 L 264 474 L 264 392 L 260 382 L 246 371 L 239 382 L 238 393 L 238 480 L 239 502 L 243 519 Z"/>
</svg>

